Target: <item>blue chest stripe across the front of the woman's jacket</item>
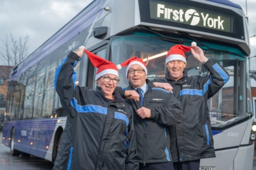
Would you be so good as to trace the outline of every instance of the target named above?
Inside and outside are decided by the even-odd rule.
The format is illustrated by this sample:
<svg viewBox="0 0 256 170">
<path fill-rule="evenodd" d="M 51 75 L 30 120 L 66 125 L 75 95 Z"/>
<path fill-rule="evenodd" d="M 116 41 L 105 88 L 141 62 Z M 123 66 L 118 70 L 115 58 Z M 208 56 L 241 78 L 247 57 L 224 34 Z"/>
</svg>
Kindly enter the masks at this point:
<svg viewBox="0 0 256 170">
<path fill-rule="evenodd" d="M 84 105 L 84 106 L 81 106 L 81 105 L 78 105 L 75 98 L 71 99 L 71 105 L 76 110 L 76 112 L 79 112 L 79 113 L 94 112 L 94 113 L 100 113 L 100 114 L 105 114 L 105 115 L 107 115 L 107 113 L 108 113 L 108 108 L 104 108 L 102 106 L 98 106 L 98 105 Z M 125 114 L 115 112 L 114 117 L 115 117 L 115 119 L 125 121 L 126 126 L 129 125 L 129 119 Z"/>
</svg>

